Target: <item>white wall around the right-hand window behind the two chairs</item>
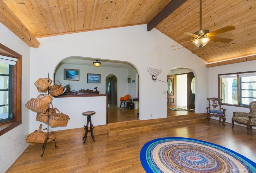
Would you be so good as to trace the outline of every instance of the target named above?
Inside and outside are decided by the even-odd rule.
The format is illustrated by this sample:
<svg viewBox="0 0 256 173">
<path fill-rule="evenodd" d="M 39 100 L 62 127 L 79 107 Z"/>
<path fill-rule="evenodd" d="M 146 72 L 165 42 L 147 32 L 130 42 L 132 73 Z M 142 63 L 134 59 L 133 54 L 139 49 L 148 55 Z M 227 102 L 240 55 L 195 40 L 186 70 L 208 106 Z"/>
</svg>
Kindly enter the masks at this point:
<svg viewBox="0 0 256 173">
<path fill-rule="evenodd" d="M 248 61 L 248 62 L 240 62 L 236 64 L 222 65 L 217 67 L 209 68 L 209 98 L 218 97 L 218 74 L 227 74 L 227 73 L 239 73 L 246 71 L 254 71 L 256 70 L 256 60 Z M 208 103 L 209 105 L 209 103 Z M 206 108 L 206 107 L 205 107 Z M 233 112 L 250 112 L 249 108 L 241 108 L 236 106 L 226 106 L 223 105 L 221 108 L 227 109 L 226 113 L 226 122 L 231 123 Z M 214 119 L 218 119 L 212 117 Z M 237 124 L 235 122 L 235 124 Z M 239 124 L 242 125 L 242 124 Z M 236 128 L 236 127 L 234 127 Z M 255 127 L 253 127 L 256 129 Z"/>
</svg>

